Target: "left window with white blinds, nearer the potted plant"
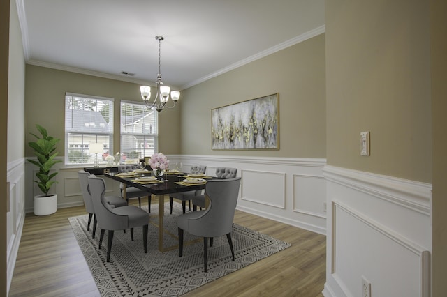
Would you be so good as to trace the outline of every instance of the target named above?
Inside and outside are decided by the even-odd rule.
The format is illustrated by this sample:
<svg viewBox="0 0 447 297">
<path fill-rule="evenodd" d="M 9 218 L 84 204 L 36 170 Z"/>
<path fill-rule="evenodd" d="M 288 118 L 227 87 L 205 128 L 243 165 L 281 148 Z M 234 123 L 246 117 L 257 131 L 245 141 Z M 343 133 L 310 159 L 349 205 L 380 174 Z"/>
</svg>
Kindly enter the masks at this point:
<svg viewBox="0 0 447 297">
<path fill-rule="evenodd" d="M 89 145 L 103 144 L 101 154 L 89 153 Z M 113 151 L 113 99 L 65 94 L 65 164 L 88 165 Z"/>
</svg>

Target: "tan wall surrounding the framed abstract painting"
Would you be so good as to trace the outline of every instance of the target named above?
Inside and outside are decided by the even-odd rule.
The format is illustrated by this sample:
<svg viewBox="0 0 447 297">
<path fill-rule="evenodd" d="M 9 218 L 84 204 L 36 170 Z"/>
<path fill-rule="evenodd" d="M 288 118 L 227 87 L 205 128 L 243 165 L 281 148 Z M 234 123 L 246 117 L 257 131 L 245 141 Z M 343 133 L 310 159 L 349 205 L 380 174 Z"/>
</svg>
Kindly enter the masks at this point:
<svg viewBox="0 0 447 297">
<path fill-rule="evenodd" d="M 211 109 L 272 93 L 279 93 L 278 151 L 211 149 Z M 325 158 L 324 34 L 192 86 L 183 96 L 182 154 Z"/>
</svg>

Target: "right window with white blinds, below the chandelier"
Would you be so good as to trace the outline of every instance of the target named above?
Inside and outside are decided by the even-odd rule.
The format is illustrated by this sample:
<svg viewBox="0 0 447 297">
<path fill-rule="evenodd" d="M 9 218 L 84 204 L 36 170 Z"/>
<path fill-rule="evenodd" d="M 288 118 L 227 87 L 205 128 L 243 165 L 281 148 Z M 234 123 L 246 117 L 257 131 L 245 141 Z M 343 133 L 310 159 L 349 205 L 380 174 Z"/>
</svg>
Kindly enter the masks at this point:
<svg viewBox="0 0 447 297">
<path fill-rule="evenodd" d="M 121 102 L 122 162 L 138 162 L 158 148 L 159 114 L 144 104 Z"/>
</svg>

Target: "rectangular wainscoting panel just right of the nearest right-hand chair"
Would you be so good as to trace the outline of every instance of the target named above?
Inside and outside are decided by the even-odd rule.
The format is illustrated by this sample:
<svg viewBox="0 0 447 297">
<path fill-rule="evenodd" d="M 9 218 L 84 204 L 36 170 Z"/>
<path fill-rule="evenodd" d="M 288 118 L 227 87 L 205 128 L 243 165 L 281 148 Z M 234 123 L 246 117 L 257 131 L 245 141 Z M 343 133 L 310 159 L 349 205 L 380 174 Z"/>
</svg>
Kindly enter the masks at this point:
<svg viewBox="0 0 447 297">
<path fill-rule="evenodd" d="M 241 199 L 276 208 L 286 208 L 286 174 L 242 169 Z"/>
</svg>

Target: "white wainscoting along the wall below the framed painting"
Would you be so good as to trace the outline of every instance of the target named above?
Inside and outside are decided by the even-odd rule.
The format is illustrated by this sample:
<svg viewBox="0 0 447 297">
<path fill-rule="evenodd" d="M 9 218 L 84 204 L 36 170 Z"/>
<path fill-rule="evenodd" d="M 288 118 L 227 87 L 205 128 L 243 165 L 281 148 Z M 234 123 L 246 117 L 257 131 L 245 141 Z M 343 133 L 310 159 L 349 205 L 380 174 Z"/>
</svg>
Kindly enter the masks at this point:
<svg viewBox="0 0 447 297">
<path fill-rule="evenodd" d="M 168 159 L 170 164 L 181 160 L 184 171 L 193 164 L 207 165 L 211 176 L 217 167 L 237 168 L 237 176 L 242 177 L 237 209 L 325 234 L 325 159 L 222 155 L 169 155 Z"/>
</svg>

